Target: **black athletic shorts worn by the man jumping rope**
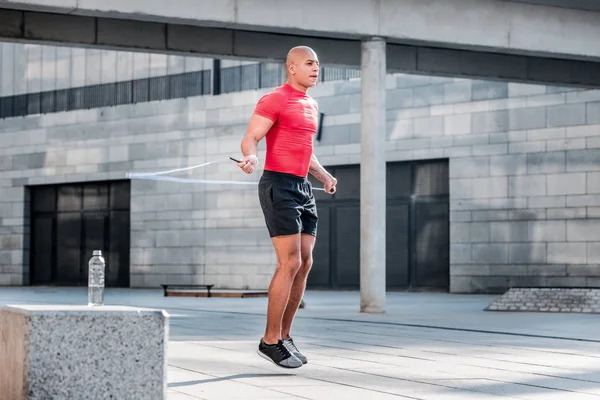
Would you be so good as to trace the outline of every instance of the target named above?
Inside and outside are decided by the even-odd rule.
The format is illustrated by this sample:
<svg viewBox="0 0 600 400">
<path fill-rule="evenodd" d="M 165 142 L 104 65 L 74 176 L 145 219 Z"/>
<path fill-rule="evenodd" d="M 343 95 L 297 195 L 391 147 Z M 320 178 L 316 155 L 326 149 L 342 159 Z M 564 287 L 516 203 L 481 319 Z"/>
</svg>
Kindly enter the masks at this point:
<svg viewBox="0 0 600 400">
<path fill-rule="evenodd" d="M 271 237 L 308 233 L 317 235 L 317 205 L 306 178 L 264 171 L 258 199 Z"/>
</svg>

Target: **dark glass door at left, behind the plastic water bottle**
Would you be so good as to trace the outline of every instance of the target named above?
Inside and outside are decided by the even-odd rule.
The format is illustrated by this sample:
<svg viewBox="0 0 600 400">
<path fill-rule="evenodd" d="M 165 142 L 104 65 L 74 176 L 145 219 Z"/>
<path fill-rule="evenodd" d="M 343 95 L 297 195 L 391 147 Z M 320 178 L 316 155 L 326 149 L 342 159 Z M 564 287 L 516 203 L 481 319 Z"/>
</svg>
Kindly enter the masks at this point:
<svg viewBox="0 0 600 400">
<path fill-rule="evenodd" d="M 32 284 L 87 285 L 87 263 L 99 249 L 106 260 L 106 285 L 129 287 L 129 182 L 30 191 Z"/>
</svg>

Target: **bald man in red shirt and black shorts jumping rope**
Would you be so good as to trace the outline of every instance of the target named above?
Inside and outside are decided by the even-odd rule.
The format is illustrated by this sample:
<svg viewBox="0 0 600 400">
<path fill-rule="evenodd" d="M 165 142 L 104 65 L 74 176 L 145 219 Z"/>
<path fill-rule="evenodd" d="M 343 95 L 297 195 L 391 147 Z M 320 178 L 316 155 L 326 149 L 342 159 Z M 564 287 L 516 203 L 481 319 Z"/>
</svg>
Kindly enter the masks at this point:
<svg viewBox="0 0 600 400">
<path fill-rule="evenodd" d="M 309 47 L 287 55 L 288 81 L 263 96 L 242 139 L 238 166 L 251 174 L 258 163 L 258 142 L 267 140 L 265 166 L 258 185 L 260 205 L 275 253 L 277 268 L 269 286 L 267 326 L 258 354 L 285 368 L 307 362 L 290 336 L 312 266 L 317 234 L 317 208 L 308 172 L 335 193 L 337 180 L 317 161 L 313 137 L 318 127 L 317 103 L 306 94 L 319 78 L 319 60 Z"/>
</svg>

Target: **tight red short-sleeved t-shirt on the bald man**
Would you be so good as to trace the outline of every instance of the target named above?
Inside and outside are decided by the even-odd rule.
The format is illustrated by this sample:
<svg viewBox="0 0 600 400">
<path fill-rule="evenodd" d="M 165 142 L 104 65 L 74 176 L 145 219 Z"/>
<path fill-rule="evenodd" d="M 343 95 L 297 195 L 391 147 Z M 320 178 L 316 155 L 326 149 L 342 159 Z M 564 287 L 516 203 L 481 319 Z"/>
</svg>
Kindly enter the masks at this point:
<svg viewBox="0 0 600 400">
<path fill-rule="evenodd" d="M 264 95 L 254 113 L 275 122 L 266 135 L 265 170 L 306 177 L 318 127 L 317 102 L 285 83 Z"/>
</svg>

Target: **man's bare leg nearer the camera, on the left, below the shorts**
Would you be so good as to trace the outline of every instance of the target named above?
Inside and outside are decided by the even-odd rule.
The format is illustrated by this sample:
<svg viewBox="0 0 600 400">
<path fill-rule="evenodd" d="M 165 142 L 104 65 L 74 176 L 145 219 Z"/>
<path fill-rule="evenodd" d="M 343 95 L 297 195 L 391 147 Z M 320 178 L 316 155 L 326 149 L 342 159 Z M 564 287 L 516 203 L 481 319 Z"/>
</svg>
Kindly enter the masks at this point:
<svg viewBox="0 0 600 400">
<path fill-rule="evenodd" d="M 281 337 L 284 311 L 287 307 L 294 278 L 300 269 L 300 234 L 277 236 L 273 239 L 277 254 L 277 268 L 269 285 L 267 328 L 263 340 L 267 344 L 277 343 Z"/>
</svg>

